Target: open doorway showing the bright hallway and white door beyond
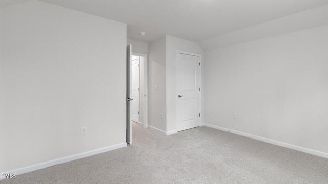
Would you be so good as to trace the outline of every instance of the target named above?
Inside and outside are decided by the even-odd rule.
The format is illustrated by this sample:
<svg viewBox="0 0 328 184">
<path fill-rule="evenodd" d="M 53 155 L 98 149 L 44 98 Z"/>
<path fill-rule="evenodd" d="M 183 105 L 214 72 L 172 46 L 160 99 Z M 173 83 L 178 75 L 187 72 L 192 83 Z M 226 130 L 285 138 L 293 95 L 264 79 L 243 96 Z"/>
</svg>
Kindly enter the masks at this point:
<svg viewBox="0 0 328 184">
<path fill-rule="evenodd" d="M 132 52 L 131 120 L 148 128 L 148 63 L 147 54 Z"/>
</svg>

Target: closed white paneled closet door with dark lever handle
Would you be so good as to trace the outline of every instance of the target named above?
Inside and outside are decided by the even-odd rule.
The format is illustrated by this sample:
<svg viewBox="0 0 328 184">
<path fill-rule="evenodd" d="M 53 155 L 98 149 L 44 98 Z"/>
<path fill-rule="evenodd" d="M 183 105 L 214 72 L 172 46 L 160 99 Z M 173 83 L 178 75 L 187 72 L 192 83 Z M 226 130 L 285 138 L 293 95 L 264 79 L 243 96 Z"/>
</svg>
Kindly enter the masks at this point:
<svg viewBox="0 0 328 184">
<path fill-rule="evenodd" d="M 200 56 L 176 54 L 177 131 L 200 125 Z"/>
</svg>

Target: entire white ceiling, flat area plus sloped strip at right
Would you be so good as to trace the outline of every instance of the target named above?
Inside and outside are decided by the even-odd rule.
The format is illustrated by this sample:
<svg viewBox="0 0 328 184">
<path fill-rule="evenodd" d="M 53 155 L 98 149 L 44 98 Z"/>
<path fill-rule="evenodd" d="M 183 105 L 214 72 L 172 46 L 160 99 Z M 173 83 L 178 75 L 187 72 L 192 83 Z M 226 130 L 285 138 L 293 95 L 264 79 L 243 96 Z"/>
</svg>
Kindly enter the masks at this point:
<svg viewBox="0 0 328 184">
<path fill-rule="evenodd" d="M 31 0 L 0 0 L 6 7 Z M 328 0 L 40 0 L 127 24 L 129 39 L 164 35 L 225 47 L 327 24 Z M 146 32 L 146 36 L 139 36 Z"/>
</svg>

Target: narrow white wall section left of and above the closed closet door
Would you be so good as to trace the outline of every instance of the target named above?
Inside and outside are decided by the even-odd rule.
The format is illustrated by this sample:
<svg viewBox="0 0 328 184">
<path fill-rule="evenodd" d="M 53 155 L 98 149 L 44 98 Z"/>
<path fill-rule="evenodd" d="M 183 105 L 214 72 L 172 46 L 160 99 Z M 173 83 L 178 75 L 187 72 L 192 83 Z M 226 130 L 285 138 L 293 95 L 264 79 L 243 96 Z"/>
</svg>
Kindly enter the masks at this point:
<svg viewBox="0 0 328 184">
<path fill-rule="evenodd" d="M 198 43 L 173 36 L 166 36 L 167 131 L 176 130 L 175 57 L 177 50 L 201 54 L 201 62 L 204 64 L 204 52 Z"/>
</svg>

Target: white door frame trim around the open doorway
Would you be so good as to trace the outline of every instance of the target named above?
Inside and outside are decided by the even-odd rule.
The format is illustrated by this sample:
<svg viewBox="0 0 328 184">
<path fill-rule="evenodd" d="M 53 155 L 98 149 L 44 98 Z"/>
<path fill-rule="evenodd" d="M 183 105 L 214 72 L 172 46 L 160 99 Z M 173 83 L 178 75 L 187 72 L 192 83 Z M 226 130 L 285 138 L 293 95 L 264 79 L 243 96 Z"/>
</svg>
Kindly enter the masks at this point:
<svg viewBox="0 0 328 184">
<path fill-rule="evenodd" d="M 141 56 L 145 58 L 145 104 L 144 104 L 144 112 L 145 112 L 145 122 L 144 122 L 144 128 L 148 128 L 148 55 L 143 54 L 143 53 L 137 53 L 137 52 L 132 52 L 132 55 L 134 56 Z"/>
</svg>

